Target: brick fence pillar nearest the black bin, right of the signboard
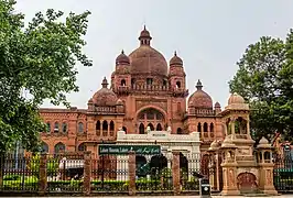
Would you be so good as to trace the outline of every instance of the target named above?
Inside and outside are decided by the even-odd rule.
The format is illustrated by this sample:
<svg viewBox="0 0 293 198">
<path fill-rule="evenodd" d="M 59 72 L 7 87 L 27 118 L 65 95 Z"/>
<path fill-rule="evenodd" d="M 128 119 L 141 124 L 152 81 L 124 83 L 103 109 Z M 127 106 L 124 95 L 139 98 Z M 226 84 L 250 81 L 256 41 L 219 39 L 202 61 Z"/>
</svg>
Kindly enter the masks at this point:
<svg viewBox="0 0 293 198">
<path fill-rule="evenodd" d="M 172 177 L 173 177 L 173 190 L 175 195 L 180 195 L 181 193 L 181 173 L 180 173 L 180 152 L 173 153 L 173 162 L 172 162 Z"/>
</svg>

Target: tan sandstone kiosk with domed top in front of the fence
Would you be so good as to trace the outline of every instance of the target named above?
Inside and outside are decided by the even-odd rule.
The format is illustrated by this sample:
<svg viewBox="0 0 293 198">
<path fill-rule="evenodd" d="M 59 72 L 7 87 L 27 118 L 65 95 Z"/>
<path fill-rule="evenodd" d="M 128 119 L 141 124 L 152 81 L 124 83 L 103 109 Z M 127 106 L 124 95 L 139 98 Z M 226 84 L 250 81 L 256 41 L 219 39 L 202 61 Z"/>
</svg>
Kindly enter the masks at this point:
<svg viewBox="0 0 293 198">
<path fill-rule="evenodd" d="M 278 195 L 273 186 L 272 147 L 264 138 L 253 147 L 254 141 L 249 130 L 249 106 L 243 98 L 232 94 L 221 116 L 226 138 L 223 142 L 214 141 L 209 147 L 211 155 L 223 155 L 221 195 Z M 213 186 L 214 179 L 210 180 Z"/>
</svg>

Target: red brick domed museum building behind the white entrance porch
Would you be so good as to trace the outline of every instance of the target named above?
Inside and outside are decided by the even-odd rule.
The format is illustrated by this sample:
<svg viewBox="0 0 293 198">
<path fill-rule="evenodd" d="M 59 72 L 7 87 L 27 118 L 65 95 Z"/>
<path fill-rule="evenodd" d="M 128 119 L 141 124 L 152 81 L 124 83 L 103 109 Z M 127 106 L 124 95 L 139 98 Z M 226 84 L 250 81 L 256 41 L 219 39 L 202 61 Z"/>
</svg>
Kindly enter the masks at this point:
<svg viewBox="0 0 293 198">
<path fill-rule="evenodd" d="M 47 131 L 41 134 L 48 153 L 91 151 L 104 142 L 115 142 L 117 131 L 145 133 L 200 133 L 202 150 L 215 139 L 224 138 L 220 105 L 213 103 L 198 80 L 189 96 L 182 58 L 175 53 L 167 63 L 151 46 L 150 32 L 144 28 L 139 47 L 116 58 L 110 85 L 105 78 L 101 88 L 88 100 L 87 109 L 41 109 Z M 187 102 L 186 102 L 187 100 Z"/>
</svg>

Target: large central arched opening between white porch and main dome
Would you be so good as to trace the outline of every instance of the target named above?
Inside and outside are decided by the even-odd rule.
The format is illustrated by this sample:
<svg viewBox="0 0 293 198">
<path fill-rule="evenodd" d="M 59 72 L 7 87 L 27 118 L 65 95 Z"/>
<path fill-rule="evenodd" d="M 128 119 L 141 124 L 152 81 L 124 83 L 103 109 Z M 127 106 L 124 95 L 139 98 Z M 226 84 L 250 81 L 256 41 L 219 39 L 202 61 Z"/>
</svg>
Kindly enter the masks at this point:
<svg viewBox="0 0 293 198">
<path fill-rule="evenodd" d="M 150 127 L 151 131 L 162 131 L 162 127 L 165 125 L 165 119 L 162 112 L 154 108 L 144 109 L 138 113 L 138 131 L 141 133 L 141 125 Z"/>
</svg>

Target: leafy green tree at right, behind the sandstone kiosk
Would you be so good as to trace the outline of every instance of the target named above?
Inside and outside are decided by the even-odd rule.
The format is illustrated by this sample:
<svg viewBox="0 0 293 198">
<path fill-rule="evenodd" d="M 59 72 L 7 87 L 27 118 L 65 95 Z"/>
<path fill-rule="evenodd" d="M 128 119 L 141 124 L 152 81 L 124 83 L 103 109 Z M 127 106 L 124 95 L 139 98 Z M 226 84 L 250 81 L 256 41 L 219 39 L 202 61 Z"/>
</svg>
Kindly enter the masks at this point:
<svg viewBox="0 0 293 198">
<path fill-rule="evenodd" d="M 293 136 L 293 32 L 285 41 L 263 36 L 246 50 L 230 91 L 249 103 L 257 140 L 275 132 Z"/>
</svg>

